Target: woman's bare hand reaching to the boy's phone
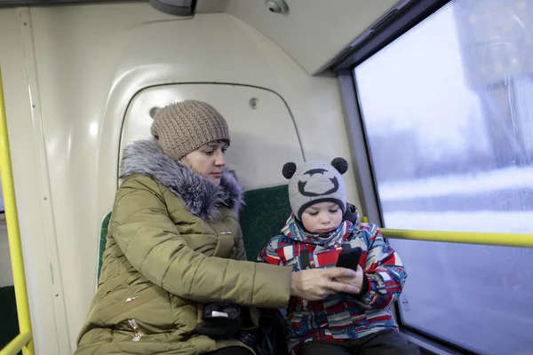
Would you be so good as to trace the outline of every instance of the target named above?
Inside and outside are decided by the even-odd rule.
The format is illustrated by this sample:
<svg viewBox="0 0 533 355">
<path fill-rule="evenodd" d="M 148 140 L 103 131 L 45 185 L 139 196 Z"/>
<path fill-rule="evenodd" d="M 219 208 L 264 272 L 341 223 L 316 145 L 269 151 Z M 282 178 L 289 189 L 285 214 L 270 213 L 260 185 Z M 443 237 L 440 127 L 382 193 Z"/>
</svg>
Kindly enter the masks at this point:
<svg viewBox="0 0 533 355">
<path fill-rule="evenodd" d="M 359 286 L 357 286 L 359 285 Z M 319 301 L 337 292 L 357 295 L 362 288 L 362 269 L 357 272 L 342 267 L 292 272 L 290 296 Z"/>
</svg>

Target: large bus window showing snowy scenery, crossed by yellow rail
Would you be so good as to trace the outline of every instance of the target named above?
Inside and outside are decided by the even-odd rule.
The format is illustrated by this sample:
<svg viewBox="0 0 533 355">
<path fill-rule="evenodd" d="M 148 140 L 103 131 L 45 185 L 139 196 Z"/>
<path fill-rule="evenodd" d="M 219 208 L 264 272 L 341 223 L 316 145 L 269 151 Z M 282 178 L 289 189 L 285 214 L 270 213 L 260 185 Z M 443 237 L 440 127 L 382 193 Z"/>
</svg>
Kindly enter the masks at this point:
<svg viewBox="0 0 533 355">
<path fill-rule="evenodd" d="M 533 232 L 533 0 L 457 0 L 354 67 L 386 228 Z M 389 241 L 402 325 L 533 349 L 533 249 Z"/>
</svg>

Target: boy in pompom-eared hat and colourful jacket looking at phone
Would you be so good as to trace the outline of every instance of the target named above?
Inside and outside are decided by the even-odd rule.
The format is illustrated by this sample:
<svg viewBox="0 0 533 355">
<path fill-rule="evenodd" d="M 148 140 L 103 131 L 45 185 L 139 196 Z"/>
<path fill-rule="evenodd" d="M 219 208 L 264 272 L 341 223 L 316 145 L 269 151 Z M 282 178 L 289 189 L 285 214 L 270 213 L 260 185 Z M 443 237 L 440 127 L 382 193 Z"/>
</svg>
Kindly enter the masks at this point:
<svg viewBox="0 0 533 355">
<path fill-rule="evenodd" d="M 418 354 L 418 347 L 399 334 L 389 310 L 407 273 L 378 226 L 359 223 L 357 209 L 346 203 L 341 175 L 347 169 L 343 158 L 283 166 L 292 213 L 259 261 L 297 272 L 334 267 L 343 245 L 362 248 L 357 276 L 341 280 L 359 288 L 358 294 L 331 292 L 314 302 L 290 298 L 285 317 L 290 354 Z"/>
</svg>

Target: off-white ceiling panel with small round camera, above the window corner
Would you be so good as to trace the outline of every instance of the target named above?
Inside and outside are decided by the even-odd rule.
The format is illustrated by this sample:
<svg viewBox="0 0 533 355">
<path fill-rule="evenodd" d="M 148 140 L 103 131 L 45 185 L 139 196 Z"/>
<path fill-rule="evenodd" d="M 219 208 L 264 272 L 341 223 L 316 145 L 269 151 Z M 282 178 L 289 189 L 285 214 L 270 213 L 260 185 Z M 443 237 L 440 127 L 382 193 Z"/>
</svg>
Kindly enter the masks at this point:
<svg viewBox="0 0 533 355">
<path fill-rule="evenodd" d="M 231 0 L 227 12 L 259 29 L 309 74 L 343 51 L 399 0 L 286 0 L 289 13 L 264 0 Z"/>
</svg>

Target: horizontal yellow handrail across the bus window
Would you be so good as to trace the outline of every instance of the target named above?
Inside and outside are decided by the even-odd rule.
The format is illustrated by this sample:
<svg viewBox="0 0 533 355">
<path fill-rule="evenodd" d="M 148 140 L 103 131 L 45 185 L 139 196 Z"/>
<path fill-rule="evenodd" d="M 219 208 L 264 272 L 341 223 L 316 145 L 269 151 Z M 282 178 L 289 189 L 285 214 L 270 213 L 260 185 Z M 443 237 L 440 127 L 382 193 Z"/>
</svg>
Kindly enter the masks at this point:
<svg viewBox="0 0 533 355">
<path fill-rule="evenodd" d="M 385 238 L 410 241 L 445 241 L 450 243 L 499 245 L 504 247 L 533 248 L 533 234 L 526 233 L 475 233 L 411 231 L 403 229 L 381 229 Z"/>
</svg>

